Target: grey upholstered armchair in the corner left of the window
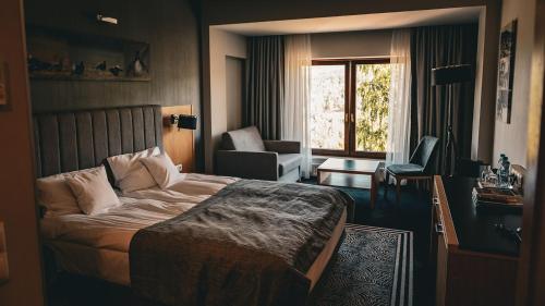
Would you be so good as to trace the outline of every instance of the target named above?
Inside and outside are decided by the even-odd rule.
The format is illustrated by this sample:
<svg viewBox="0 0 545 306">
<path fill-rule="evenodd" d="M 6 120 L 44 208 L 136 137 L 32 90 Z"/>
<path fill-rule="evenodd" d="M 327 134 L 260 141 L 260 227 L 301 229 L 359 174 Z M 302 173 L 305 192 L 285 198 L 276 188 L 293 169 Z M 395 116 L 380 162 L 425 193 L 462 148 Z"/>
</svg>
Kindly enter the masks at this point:
<svg viewBox="0 0 545 306">
<path fill-rule="evenodd" d="M 296 182 L 301 178 L 301 144 L 263 140 L 255 126 L 223 133 L 216 154 L 216 173 L 243 179 Z"/>
</svg>

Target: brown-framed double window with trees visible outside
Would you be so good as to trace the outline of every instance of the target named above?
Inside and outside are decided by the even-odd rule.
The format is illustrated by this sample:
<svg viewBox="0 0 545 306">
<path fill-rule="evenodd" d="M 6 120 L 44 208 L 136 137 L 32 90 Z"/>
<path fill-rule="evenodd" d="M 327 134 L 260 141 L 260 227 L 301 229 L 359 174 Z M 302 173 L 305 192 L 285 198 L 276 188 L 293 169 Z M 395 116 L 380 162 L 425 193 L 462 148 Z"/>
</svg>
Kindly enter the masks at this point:
<svg viewBox="0 0 545 306">
<path fill-rule="evenodd" d="M 313 61 L 311 75 L 313 154 L 385 158 L 389 59 Z"/>
</svg>

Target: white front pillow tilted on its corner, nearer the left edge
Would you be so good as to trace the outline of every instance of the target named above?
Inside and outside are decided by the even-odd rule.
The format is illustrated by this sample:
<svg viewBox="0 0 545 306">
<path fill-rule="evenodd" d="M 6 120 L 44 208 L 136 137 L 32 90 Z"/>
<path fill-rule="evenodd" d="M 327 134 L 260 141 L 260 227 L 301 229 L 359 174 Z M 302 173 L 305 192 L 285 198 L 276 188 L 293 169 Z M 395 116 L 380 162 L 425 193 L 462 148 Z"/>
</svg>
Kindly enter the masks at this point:
<svg viewBox="0 0 545 306">
<path fill-rule="evenodd" d="M 66 183 L 77 199 L 77 206 L 86 215 L 96 215 L 120 204 L 108 182 L 104 167 L 95 171 L 77 173 L 68 178 Z"/>
</svg>

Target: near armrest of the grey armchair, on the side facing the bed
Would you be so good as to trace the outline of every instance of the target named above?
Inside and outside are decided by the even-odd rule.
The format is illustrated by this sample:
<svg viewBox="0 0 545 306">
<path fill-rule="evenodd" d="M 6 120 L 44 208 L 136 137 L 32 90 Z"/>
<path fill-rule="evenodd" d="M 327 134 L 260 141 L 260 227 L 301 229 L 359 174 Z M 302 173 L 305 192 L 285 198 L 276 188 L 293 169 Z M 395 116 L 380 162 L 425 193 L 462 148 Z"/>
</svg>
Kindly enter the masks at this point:
<svg viewBox="0 0 545 306">
<path fill-rule="evenodd" d="M 218 150 L 216 173 L 242 179 L 278 181 L 278 154 Z"/>
</svg>

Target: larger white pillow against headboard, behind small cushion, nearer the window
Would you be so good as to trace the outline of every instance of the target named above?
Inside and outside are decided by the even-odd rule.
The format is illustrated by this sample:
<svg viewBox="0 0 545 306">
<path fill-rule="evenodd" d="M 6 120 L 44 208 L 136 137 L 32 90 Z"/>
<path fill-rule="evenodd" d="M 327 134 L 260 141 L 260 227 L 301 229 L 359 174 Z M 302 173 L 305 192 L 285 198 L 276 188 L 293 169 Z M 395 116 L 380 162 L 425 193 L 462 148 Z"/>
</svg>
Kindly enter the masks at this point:
<svg viewBox="0 0 545 306">
<path fill-rule="evenodd" d="M 157 156 L 161 151 L 158 147 L 145 149 L 134 154 L 125 154 L 109 157 L 114 185 L 123 193 L 130 193 L 140 189 L 150 188 L 157 185 L 154 178 L 149 175 L 146 168 L 138 161 L 141 158 Z"/>
</svg>

